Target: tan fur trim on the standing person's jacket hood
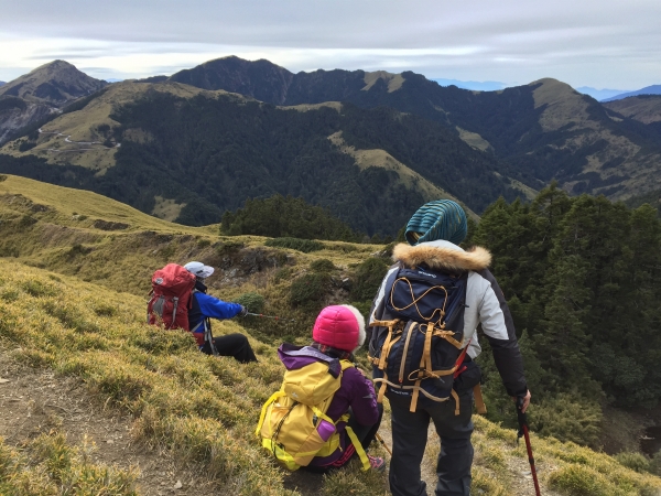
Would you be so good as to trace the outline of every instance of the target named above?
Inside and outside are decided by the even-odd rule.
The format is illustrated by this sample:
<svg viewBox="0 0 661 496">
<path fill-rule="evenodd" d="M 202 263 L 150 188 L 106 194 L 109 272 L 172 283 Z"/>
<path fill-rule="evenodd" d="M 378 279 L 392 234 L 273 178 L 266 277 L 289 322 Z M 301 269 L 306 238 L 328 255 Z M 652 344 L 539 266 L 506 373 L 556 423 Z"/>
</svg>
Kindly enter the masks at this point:
<svg viewBox="0 0 661 496">
<path fill-rule="evenodd" d="M 402 261 L 407 267 L 424 263 L 430 269 L 462 272 L 479 271 L 491 265 L 491 254 L 479 246 L 464 251 L 449 241 L 430 241 L 416 246 L 400 242 L 392 250 L 392 259 Z"/>
</svg>

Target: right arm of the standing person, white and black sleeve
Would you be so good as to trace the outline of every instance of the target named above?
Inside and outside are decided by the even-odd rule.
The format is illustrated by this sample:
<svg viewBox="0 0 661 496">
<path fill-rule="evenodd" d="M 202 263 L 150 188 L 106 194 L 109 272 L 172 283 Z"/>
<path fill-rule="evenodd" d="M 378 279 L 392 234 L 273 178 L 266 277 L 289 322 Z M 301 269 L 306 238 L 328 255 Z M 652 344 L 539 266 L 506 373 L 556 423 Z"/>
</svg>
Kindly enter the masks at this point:
<svg viewBox="0 0 661 496">
<path fill-rule="evenodd" d="M 512 315 L 491 272 L 485 269 L 479 274 L 488 282 L 478 305 L 479 322 L 491 345 L 496 367 L 510 396 L 525 395 L 528 387 L 523 375 L 523 358 Z"/>
</svg>

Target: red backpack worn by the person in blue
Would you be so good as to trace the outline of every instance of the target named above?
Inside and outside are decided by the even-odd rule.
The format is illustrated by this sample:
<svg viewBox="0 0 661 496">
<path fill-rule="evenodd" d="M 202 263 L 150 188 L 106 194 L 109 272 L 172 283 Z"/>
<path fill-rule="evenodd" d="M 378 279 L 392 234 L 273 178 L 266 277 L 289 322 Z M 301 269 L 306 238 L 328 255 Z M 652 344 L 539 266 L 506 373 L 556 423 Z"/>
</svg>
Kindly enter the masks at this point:
<svg viewBox="0 0 661 496">
<path fill-rule="evenodd" d="M 188 309 L 195 276 L 176 263 L 167 263 L 152 277 L 152 298 L 147 304 L 147 321 L 170 328 L 188 328 Z"/>
</svg>

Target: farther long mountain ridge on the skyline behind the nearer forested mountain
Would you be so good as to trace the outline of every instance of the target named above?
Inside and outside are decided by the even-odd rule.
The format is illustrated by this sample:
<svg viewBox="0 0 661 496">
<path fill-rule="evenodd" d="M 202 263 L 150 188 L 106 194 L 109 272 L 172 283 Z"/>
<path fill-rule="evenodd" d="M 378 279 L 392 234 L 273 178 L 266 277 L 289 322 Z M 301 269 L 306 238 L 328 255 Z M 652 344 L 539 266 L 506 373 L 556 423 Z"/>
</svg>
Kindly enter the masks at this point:
<svg viewBox="0 0 661 496">
<path fill-rule="evenodd" d="M 649 191 L 661 170 L 661 147 L 636 122 L 611 119 L 593 98 L 550 78 L 500 91 L 470 91 L 442 87 L 411 72 L 292 74 L 268 61 L 226 57 L 171 79 L 274 105 L 340 100 L 412 112 L 460 136 L 473 133 L 473 144 L 481 139 L 481 147 L 538 188 L 538 181 L 554 177 L 567 191 L 626 198 Z"/>
</svg>

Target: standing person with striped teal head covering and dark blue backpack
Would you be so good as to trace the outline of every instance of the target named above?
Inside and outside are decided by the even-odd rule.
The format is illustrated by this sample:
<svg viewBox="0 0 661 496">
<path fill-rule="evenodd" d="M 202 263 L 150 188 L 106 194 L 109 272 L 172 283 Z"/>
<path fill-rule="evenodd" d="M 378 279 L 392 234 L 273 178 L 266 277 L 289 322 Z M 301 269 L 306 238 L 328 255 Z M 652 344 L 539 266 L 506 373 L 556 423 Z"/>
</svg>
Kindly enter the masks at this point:
<svg viewBox="0 0 661 496">
<path fill-rule="evenodd" d="M 502 291 L 487 269 L 484 248 L 459 248 L 466 214 L 455 202 L 423 205 L 409 220 L 407 244 L 375 298 L 369 356 L 378 400 L 389 399 L 392 419 L 390 490 L 426 495 L 420 464 L 430 420 L 441 441 L 436 496 L 468 495 L 473 464 L 473 402 L 486 413 L 479 390 L 476 328 L 494 352 L 508 393 L 530 402 L 514 326 Z"/>
</svg>

